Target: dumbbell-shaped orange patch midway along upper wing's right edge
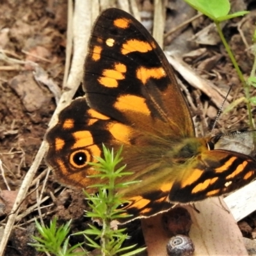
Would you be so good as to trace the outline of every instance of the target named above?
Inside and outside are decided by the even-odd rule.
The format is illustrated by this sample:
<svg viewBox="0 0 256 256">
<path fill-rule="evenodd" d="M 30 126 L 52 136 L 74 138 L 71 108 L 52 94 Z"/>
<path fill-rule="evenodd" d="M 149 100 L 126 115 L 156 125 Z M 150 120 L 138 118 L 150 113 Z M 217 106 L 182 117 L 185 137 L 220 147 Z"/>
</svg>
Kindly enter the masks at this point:
<svg viewBox="0 0 256 256">
<path fill-rule="evenodd" d="M 166 76 L 163 67 L 159 68 L 145 68 L 140 67 L 136 70 L 136 77 L 140 79 L 141 83 L 146 84 L 148 79 L 161 79 Z"/>
</svg>

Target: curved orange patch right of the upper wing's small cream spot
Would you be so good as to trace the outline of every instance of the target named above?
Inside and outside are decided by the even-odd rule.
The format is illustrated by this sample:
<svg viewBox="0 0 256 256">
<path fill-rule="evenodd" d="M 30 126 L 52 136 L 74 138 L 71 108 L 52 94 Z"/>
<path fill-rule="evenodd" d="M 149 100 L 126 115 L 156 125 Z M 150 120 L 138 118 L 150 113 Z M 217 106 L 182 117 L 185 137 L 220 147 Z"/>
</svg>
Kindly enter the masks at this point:
<svg viewBox="0 0 256 256">
<path fill-rule="evenodd" d="M 154 46 L 156 45 L 137 39 L 130 39 L 122 45 L 121 52 L 124 55 L 130 52 L 148 52 L 152 51 Z"/>
</svg>

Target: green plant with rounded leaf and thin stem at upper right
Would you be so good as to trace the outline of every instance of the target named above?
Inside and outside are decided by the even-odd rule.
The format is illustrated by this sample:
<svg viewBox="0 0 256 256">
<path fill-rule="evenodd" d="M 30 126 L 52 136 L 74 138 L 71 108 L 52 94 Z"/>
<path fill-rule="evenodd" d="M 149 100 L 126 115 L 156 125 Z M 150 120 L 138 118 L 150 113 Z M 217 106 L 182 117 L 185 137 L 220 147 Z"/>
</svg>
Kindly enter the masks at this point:
<svg viewBox="0 0 256 256">
<path fill-rule="evenodd" d="M 249 12 L 242 11 L 242 12 L 228 14 L 230 12 L 230 3 L 228 0 L 214 0 L 214 1 L 212 1 L 212 0 L 208 0 L 208 1 L 184 0 L 184 1 L 186 3 L 188 3 L 190 6 L 192 6 L 193 8 L 195 8 L 196 10 L 198 10 L 199 12 L 204 13 L 204 15 L 206 15 L 207 17 L 209 17 L 210 19 L 213 20 L 214 24 L 216 25 L 217 31 L 220 35 L 221 41 L 223 42 L 223 45 L 225 46 L 225 49 L 228 52 L 228 56 L 230 57 L 230 60 L 232 61 L 234 67 L 236 68 L 237 75 L 238 75 L 241 83 L 243 84 L 245 97 L 242 97 L 242 98 L 237 99 L 234 102 L 232 102 L 232 104 L 230 104 L 230 108 L 228 108 L 226 110 L 226 112 L 228 110 L 234 108 L 235 106 L 237 106 L 237 104 L 244 101 L 246 103 L 246 106 L 248 109 L 250 128 L 255 129 L 255 125 L 254 125 L 253 118 L 252 118 L 252 108 L 251 108 L 251 104 L 250 104 L 251 102 L 254 103 L 254 99 L 250 96 L 250 86 L 251 85 L 254 86 L 255 81 L 256 81 L 256 79 L 255 79 L 256 61 L 255 61 L 255 65 L 253 65 L 253 69 L 252 69 L 253 75 L 251 73 L 250 79 L 248 81 L 246 81 L 244 79 L 244 76 L 237 64 L 237 61 L 234 58 L 234 54 L 232 53 L 232 51 L 227 43 L 227 40 L 225 39 L 225 36 L 223 35 L 223 33 L 221 31 L 221 27 L 220 27 L 220 22 L 222 22 L 223 20 L 228 20 L 228 19 L 232 19 L 234 17 L 239 17 L 239 16 L 242 16 Z M 256 99 L 255 99 L 255 102 L 256 102 Z"/>
</svg>

